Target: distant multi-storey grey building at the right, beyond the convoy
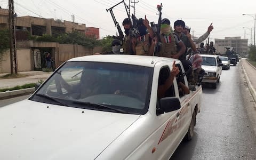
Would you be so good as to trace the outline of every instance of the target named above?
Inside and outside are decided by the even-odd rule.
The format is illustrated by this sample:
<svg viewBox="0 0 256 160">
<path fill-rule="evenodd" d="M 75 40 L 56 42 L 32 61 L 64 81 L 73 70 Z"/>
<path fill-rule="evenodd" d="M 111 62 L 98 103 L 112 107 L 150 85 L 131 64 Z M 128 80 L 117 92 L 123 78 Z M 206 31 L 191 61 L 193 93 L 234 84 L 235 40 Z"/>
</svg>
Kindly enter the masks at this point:
<svg viewBox="0 0 256 160">
<path fill-rule="evenodd" d="M 234 51 L 241 55 L 248 54 L 248 39 L 241 39 L 241 37 L 225 37 L 225 39 L 215 38 L 215 49 L 221 54 L 225 54 L 226 47 L 234 47 Z"/>
</svg>

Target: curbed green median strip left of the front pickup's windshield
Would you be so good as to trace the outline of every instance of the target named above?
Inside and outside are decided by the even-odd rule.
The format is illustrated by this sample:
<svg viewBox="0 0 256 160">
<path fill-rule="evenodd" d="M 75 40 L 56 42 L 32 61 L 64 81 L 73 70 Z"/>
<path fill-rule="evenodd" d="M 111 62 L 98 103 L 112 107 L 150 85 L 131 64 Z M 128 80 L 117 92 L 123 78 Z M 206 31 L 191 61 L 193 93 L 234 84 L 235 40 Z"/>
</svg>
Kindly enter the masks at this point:
<svg viewBox="0 0 256 160">
<path fill-rule="evenodd" d="M 17 97 L 18 95 L 25 95 L 33 92 L 35 92 L 35 87 L 28 88 L 28 89 L 0 92 L 0 99 Z"/>
</svg>

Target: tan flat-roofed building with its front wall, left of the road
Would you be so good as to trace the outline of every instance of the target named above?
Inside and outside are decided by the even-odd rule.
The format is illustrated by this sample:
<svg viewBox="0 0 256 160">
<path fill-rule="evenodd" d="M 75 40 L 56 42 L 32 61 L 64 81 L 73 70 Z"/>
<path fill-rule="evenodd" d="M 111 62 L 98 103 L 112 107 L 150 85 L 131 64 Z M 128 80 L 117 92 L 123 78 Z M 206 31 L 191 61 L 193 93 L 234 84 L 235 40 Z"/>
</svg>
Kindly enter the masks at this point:
<svg viewBox="0 0 256 160">
<path fill-rule="evenodd" d="M 99 28 L 87 29 L 85 24 L 65 20 L 54 20 L 37 17 L 15 17 L 15 34 L 17 47 L 18 71 L 41 70 L 45 67 L 45 55 L 51 54 L 55 68 L 70 58 L 102 53 L 102 47 L 86 48 L 78 44 L 59 44 L 57 42 L 36 42 L 29 40 L 29 35 L 59 35 L 73 30 L 85 35 L 99 37 Z M 0 30 L 9 28 L 9 10 L 0 9 Z M 92 28 L 92 27 L 90 27 Z M 98 31 L 97 31 L 98 29 Z M 29 33 L 29 34 L 28 34 Z M 10 50 L 0 54 L 0 73 L 10 72 Z"/>
</svg>

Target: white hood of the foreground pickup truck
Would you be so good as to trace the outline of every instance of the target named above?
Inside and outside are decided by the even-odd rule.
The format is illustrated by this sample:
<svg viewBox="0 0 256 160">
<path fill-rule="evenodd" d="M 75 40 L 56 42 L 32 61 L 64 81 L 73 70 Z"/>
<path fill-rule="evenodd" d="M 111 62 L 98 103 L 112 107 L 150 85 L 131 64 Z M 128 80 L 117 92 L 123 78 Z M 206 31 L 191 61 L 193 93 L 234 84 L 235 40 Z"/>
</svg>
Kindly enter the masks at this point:
<svg viewBox="0 0 256 160">
<path fill-rule="evenodd" d="M 13 103 L 0 108 L 0 159 L 94 159 L 139 116 Z"/>
</svg>

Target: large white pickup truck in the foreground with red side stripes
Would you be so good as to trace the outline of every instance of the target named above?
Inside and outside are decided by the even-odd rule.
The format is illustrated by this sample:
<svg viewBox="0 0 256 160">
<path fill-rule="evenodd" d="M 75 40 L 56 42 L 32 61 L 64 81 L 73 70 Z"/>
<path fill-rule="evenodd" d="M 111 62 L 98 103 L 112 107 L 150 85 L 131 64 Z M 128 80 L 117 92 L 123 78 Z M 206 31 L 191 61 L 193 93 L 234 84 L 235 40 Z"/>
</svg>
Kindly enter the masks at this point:
<svg viewBox="0 0 256 160">
<path fill-rule="evenodd" d="M 30 98 L 0 108 L 0 159 L 169 159 L 193 137 L 202 87 L 175 59 L 89 55 L 63 63 Z"/>
</svg>

